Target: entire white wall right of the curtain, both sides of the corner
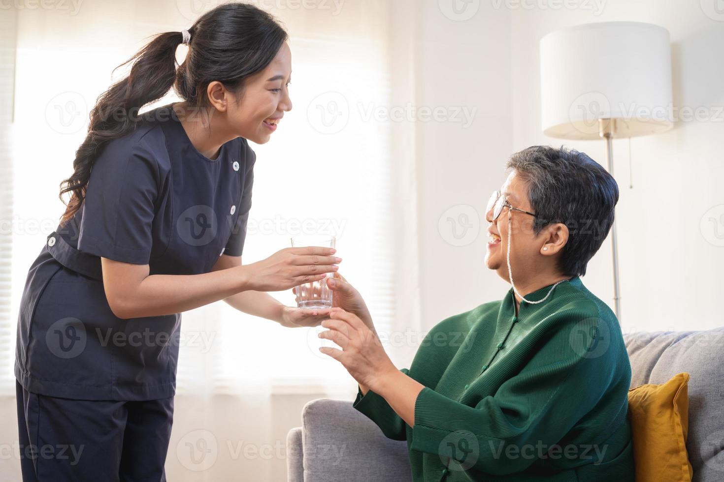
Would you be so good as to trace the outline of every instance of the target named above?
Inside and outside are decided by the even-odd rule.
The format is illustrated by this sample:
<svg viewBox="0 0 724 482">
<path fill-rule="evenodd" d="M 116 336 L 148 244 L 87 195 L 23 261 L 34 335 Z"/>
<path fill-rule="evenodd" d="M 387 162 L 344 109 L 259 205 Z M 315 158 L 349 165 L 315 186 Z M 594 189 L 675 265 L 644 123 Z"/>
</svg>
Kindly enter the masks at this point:
<svg viewBox="0 0 724 482">
<path fill-rule="evenodd" d="M 714 118 L 679 121 L 665 134 L 631 139 L 631 162 L 628 139 L 614 142 L 623 330 L 722 324 L 716 301 L 724 288 L 724 247 L 715 244 L 724 244 L 724 21 L 707 17 L 699 1 L 601 1 L 600 9 L 583 0 L 572 2 L 576 9 L 546 8 L 548 2 L 532 0 L 524 1 L 526 8 L 514 1 L 484 1 L 465 22 L 446 21 L 437 2 L 426 2 L 419 34 L 420 102 L 463 103 L 476 106 L 478 114 L 469 129 L 432 123 L 418 128 L 424 329 L 500 299 L 510 288 L 483 264 L 484 203 L 502 184 L 508 155 L 530 145 L 566 145 L 605 165 L 602 141 L 542 134 L 539 40 L 570 25 L 615 20 L 666 27 L 675 106 L 704 107 L 707 118 Z M 707 7 L 706 1 L 701 4 Z M 438 230 L 440 215 L 456 205 L 473 205 L 481 220 L 479 236 L 466 246 L 446 241 L 449 228 Z M 607 240 L 582 279 L 613 307 L 610 253 Z"/>
</svg>

